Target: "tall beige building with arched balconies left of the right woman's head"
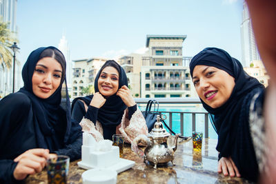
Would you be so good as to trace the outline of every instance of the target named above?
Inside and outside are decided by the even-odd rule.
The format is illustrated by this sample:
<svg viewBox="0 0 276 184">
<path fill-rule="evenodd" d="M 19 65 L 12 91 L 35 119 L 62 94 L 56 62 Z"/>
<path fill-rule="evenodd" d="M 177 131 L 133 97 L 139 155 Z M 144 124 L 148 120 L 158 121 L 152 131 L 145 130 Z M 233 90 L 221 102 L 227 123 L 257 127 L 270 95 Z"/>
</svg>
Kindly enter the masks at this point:
<svg viewBox="0 0 276 184">
<path fill-rule="evenodd" d="M 182 44 L 186 35 L 147 35 L 148 53 L 142 57 L 141 97 L 190 97 L 190 71 L 183 65 Z"/>
</svg>

